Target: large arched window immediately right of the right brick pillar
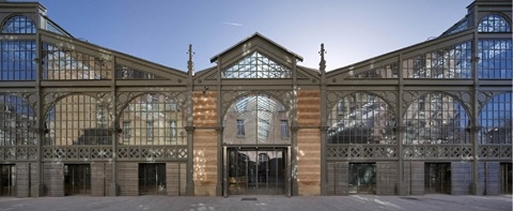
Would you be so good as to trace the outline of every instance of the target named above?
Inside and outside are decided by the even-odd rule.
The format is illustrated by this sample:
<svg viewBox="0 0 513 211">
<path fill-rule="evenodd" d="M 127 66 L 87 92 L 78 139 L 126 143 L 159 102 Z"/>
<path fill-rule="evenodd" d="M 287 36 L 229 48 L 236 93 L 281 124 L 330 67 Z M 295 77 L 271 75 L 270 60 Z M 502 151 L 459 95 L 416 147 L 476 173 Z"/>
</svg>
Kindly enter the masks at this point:
<svg viewBox="0 0 513 211">
<path fill-rule="evenodd" d="M 392 144 L 395 118 L 388 104 L 367 93 L 340 100 L 328 117 L 330 144 Z"/>
</svg>

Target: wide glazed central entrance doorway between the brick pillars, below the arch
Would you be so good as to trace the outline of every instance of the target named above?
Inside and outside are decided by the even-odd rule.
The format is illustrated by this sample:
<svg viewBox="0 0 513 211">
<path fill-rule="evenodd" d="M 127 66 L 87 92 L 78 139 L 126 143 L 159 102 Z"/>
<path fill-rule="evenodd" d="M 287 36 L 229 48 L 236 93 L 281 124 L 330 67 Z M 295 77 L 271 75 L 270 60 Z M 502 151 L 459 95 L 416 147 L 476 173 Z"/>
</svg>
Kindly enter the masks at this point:
<svg viewBox="0 0 513 211">
<path fill-rule="evenodd" d="M 285 194 L 286 148 L 227 149 L 225 177 L 230 195 Z M 226 187 L 226 186 L 225 186 Z"/>
</svg>

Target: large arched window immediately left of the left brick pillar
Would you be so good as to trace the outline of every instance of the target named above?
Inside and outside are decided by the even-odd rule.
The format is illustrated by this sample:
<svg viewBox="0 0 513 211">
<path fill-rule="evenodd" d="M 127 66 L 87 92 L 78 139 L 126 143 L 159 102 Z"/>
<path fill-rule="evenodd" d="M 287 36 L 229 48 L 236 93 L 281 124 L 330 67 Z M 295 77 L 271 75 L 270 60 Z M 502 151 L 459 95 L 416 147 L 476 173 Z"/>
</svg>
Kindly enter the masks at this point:
<svg viewBox="0 0 513 211">
<path fill-rule="evenodd" d="M 164 94 L 146 93 L 130 101 L 119 120 L 120 145 L 186 145 L 183 110 Z"/>
</svg>

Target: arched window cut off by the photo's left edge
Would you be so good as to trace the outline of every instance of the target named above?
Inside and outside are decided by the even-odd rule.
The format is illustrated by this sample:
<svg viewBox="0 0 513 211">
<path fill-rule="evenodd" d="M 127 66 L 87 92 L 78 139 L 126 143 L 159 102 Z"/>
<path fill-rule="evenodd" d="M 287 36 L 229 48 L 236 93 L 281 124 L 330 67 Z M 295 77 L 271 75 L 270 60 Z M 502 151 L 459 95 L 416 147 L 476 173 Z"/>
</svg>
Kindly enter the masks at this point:
<svg viewBox="0 0 513 211">
<path fill-rule="evenodd" d="M 0 95 L 0 146 L 35 145 L 36 116 L 16 95 Z"/>
</svg>

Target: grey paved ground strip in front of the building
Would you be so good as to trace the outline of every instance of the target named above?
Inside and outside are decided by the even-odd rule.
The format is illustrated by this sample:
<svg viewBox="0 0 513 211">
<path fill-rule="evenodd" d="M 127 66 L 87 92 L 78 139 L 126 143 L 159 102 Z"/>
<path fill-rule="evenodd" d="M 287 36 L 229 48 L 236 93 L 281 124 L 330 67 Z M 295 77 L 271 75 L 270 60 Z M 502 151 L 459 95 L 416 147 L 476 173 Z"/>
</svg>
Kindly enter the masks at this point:
<svg viewBox="0 0 513 211">
<path fill-rule="evenodd" d="M 0 211 L 138 210 L 415 210 L 511 211 L 511 195 L 499 196 L 230 196 L 223 197 L 40 197 L 0 198 Z"/>
</svg>

